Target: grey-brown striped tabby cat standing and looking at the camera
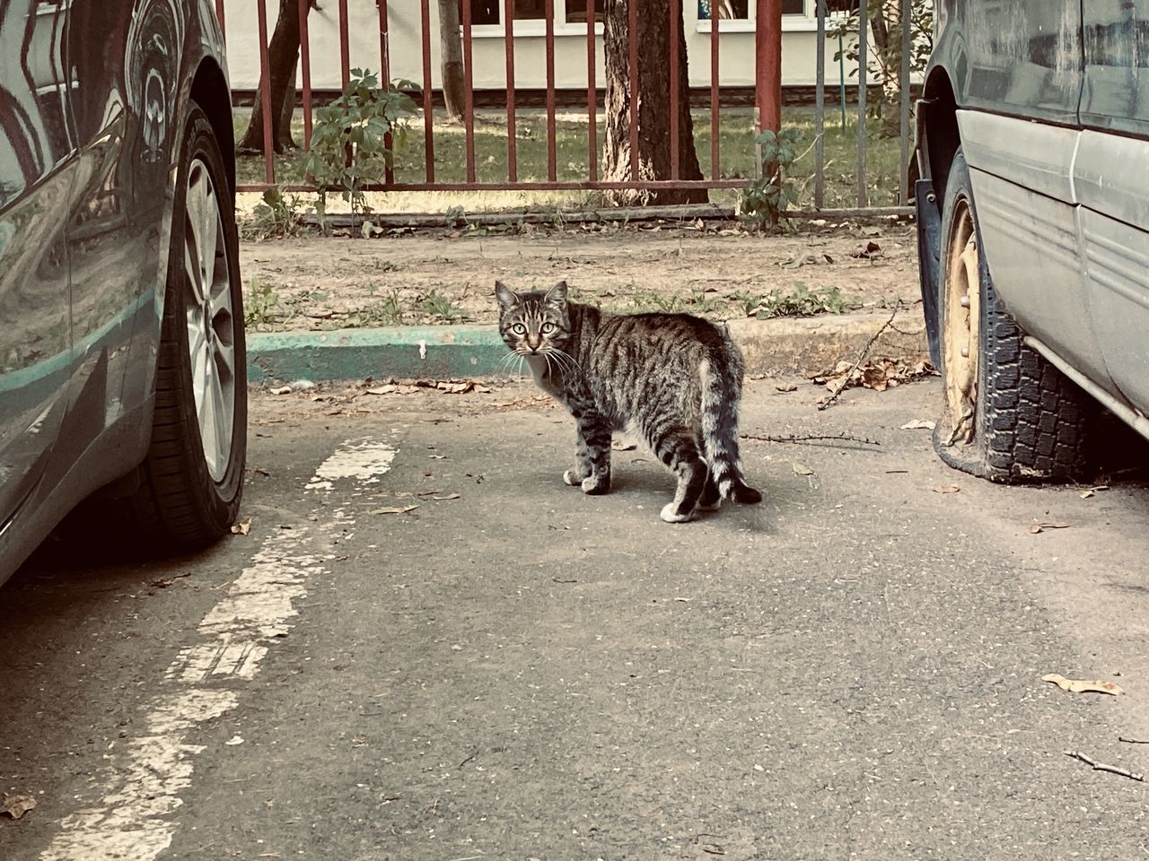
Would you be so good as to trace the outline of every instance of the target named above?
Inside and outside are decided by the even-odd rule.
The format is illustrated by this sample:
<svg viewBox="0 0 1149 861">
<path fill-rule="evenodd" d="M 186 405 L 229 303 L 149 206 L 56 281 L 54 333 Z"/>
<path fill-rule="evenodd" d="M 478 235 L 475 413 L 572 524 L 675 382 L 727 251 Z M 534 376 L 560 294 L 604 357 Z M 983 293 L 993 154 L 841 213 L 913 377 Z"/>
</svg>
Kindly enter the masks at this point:
<svg viewBox="0 0 1149 861">
<path fill-rule="evenodd" d="M 678 476 L 666 522 L 724 498 L 762 502 L 738 459 L 745 365 L 726 331 L 687 313 L 608 313 L 568 301 L 566 289 L 562 281 L 516 293 L 495 282 L 503 341 L 574 417 L 574 468 L 563 481 L 586 494 L 610 490 L 610 439 L 625 430 Z"/>
</svg>

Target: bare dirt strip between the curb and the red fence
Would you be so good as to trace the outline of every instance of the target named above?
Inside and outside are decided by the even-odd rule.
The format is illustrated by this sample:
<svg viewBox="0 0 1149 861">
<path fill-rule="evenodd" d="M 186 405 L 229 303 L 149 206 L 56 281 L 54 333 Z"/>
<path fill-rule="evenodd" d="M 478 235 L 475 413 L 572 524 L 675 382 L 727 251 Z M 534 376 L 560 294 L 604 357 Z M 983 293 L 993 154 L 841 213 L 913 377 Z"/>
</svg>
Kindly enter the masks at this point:
<svg viewBox="0 0 1149 861">
<path fill-rule="evenodd" d="M 730 222 L 307 235 L 244 241 L 240 256 L 252 331 L 489 324 L 496 279 L 517 289 L 565 279 L 580 301 L 609 310 L 712 319 L 773 316 L 803 296 L 833 311 L 919 301 L 915 228 L 905 224 L 784 235 Z"/>
</svg>

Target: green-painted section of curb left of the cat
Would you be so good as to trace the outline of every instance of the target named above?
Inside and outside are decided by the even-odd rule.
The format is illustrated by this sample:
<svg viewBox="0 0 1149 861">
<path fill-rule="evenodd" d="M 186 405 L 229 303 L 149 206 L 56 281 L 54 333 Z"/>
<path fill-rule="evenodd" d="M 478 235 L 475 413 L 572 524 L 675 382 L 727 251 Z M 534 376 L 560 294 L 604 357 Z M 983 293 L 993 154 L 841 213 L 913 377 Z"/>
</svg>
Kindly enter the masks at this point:
<svg viewBox="0 0 1149 861">
<path fill-rule="evenodd" d="M 247 336 L 247 379 L 446 380 L 491 377 L 507 346 L 494 326 L 395 326 Z"/>
</svg>

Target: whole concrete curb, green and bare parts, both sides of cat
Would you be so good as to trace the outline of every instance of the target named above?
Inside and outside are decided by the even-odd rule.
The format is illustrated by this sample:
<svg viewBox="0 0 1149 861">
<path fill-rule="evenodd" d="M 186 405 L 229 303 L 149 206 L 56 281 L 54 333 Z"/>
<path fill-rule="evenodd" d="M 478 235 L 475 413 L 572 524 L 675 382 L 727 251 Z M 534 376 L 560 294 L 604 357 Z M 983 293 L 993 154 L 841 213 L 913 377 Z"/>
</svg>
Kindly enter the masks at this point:
<svg viewBox="0 0 1149 861">
<path fill-rule="evenodd" d="M 827 371 L 854 362 L 890 312 L 810 318 L 732 320 L 748 374 Z M 460 379 L 508 375 L 507 348 L 493 325 L 394 326 L 327 332 L 250 333 L 247 378 L 253 383 L 311 380 Z M 874 341 L 871 356 L 930 357 L 916 309 L 899 312 Z"/>
</svg>

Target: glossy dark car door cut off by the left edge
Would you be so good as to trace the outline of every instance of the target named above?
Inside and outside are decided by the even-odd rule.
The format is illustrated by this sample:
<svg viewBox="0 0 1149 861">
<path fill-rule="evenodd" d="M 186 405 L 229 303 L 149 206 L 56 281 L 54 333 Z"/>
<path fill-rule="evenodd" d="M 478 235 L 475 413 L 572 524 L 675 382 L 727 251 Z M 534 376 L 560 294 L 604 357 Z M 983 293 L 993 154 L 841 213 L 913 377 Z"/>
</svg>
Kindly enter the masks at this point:
<svg viewBox="0 0 1149 861">
<path fill-rule="evenodd" d="M 0 523 L 40 481 L 71 363 L 67 224 L 74 158 L 61 45 L 68 2 L 0 15 Z"/>
</svg>

